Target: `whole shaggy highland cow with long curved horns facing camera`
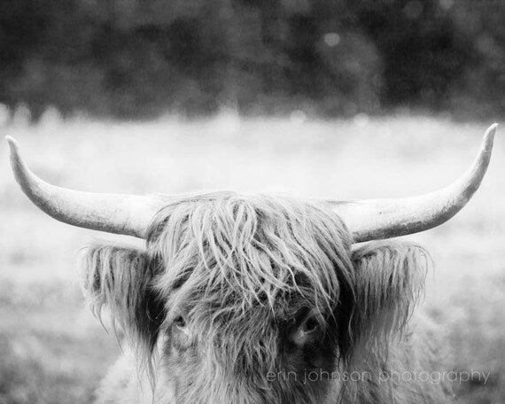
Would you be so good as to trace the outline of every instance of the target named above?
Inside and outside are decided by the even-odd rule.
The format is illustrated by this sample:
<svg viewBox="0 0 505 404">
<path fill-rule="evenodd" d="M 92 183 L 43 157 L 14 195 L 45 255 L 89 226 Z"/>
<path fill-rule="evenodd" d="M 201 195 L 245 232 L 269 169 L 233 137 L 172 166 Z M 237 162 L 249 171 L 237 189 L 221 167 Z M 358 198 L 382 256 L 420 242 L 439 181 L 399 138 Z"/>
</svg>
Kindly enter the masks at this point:
<svg viewBox="0 0 505 404">
<path fill-rule="evenodd" d="M 437 328 L 413 314 L 429 254 L 388 238 L 454 216 L 486 173 L 494 132 L 447 188 L 356 202 L 65 190 L 9 141 L 16 178 L 44 212 L 145 239 L 85 254 L 91 307 L 107 308 L 125 338 L 98 403 L 405 404 L 453 395 L 419 377 L 444 370 Z"/>
</svg>

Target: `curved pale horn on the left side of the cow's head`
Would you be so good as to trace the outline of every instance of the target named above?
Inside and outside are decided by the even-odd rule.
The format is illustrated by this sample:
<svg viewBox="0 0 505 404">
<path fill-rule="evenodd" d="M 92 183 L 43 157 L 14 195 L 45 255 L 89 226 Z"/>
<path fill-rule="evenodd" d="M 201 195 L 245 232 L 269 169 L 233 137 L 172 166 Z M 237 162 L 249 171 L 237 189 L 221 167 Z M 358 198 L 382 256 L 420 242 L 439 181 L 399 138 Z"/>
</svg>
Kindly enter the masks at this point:
<svg viewBox="0 0 505 404">
<path fill-rule="evenodd" d="M 82 192 L 45 183 L 25 165 L 16 141 L 11 136 L 5 138 L 11 148 L 12 171 L 21 190 L 43 212 L 58 221 L 145 238 L 152 216 L 167 203 L 159 196 Z"/>
</svg>

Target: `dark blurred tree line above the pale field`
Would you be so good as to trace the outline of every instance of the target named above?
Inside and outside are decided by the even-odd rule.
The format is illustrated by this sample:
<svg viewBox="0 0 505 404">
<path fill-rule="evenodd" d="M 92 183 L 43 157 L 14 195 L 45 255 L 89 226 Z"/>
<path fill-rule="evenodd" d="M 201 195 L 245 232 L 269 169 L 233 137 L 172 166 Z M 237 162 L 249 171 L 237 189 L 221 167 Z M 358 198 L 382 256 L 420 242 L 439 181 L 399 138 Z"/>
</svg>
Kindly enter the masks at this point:
<svg viewBox="0 0 505 404">
<path fill-rule="evenodd" d="M 502 115 L 503 21 L 500 0 L 2 0 L 0 103 L 33 120 Z"/>
</svg>

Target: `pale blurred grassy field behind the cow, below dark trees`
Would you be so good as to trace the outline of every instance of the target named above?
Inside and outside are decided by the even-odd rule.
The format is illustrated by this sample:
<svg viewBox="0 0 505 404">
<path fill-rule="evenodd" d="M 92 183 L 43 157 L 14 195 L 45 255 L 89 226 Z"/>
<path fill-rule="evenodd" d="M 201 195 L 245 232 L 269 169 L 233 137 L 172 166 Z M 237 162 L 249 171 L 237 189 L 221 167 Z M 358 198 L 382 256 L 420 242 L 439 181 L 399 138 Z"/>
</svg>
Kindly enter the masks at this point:
<svg viewBox="0 0 505 404">
<path fill-rule="evenodd" d="M 350 121 L 44 120 L 2 128 L 35 173 L 79 190 L 276 190 L 329 198 L 400 197 L 453 181 L 487 123 L 397 117 Z M 501 133 L 501 131 L 503 133 Z M 453 369 L 490 372 L 457 385 L 460 402 L 505 402 L 505 128 L 485 182 L 454 220 L 408 237 L 436 263 L 424 304 L 447 330 Z M 14 183 L 0 143 L 0 404 L 89 403 L 119 354 L 89 315 L 80 247 L 119 240 L 51 220 Z M 137 241 L 128 239 L 132 243 Z"/>
</svg>

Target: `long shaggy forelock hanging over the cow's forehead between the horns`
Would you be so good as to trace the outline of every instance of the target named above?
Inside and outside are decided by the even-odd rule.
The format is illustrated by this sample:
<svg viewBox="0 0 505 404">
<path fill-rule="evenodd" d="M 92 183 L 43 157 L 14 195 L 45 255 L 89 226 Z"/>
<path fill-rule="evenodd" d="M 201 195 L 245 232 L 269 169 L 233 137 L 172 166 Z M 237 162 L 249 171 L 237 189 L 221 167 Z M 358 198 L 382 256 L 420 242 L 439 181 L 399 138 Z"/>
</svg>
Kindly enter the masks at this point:
<svg viewBox="0 0 505 404">
<path fill-rule="evenodd" d="M 285 196 L 205 195 L 175 201 L 151 223 L 155 288 L 167 308 L 215 318 L 328 315 L 351 276 L 350 236 L 324 206 Z"/>
</svg>

